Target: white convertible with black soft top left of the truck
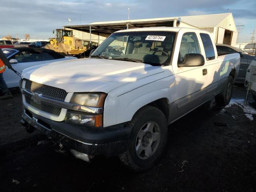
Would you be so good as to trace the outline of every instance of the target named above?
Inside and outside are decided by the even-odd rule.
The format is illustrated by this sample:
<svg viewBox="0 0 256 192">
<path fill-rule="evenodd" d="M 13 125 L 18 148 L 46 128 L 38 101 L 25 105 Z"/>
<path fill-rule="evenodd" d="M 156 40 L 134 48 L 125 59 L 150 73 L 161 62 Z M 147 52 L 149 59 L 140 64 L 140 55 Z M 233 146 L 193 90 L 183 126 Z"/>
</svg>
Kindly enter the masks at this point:
<svg viewBox="0 0 256 192">
<path fill-rule="evenodd" d="M 2 51 L 8 60 L 10 60 L 12 67 L 19 73 L 32 66 L 39 66 L 55 61 L 76 59 L 76 57 L 65 57 L 53 50 L 44 48 L 3 48 Z M 4 80 L 6 81 L 8 88 L 13 88 L 19 86 L 20 77 L 12 70 L 6 68 L 6 71 L 4 72 Z"/>
</svg>

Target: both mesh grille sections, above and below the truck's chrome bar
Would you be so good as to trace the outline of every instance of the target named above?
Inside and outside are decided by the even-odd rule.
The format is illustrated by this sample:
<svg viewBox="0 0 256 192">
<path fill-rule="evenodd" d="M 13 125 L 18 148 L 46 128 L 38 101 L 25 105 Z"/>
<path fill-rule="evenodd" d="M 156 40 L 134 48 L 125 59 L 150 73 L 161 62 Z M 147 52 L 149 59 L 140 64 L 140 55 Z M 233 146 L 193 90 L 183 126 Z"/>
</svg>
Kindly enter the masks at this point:
<svg viewBox="0 0 256 192">
<path fill-rule="evenodd" d="M 30 80 L 26 80 L 25 89 L 29 92 L 42 94 L 44 97 L 59 101 L 64 101 L 68 94 L 63 89 L 36 83 Z M 44 111 L 55 116 L 60 116 L 61 108 L 59 107 L 50 106 L 48 104 L 43 103 L 38 104 L 28 97 L 25 97 L 25 100 L 27 104 L 38 110 Z"/>
</svg>

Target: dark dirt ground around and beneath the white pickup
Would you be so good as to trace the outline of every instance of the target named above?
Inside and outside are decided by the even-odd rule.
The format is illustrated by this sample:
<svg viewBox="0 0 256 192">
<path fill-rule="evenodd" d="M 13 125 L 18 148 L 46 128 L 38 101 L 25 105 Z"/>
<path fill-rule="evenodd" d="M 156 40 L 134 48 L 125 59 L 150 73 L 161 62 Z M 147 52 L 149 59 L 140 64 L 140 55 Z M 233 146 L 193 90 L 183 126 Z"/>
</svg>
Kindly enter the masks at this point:
<svg viewBox="0 0 256 192">
<path fill-rule="evenodd" d="M 162 160 L 132 173 L 116 157 L 88 164 L 55 152 L 43 134 L 22 128 L 21 94 L 12 93 L 0 101 L 1 192 L 256 191 L 256 115 L 250 120 L 239 105 L 221 108 L 212 100 L 171 124 Z M 236 86 L 233 98 L 245 93 Z"/>
</svg>

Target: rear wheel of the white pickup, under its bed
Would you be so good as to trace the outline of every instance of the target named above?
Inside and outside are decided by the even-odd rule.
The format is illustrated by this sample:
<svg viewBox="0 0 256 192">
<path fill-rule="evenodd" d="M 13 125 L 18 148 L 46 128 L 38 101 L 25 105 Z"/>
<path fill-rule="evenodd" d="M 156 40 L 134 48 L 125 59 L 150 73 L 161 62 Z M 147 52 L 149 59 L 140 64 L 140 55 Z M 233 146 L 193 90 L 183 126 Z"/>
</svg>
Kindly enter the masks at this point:
<svg viewBox="0 0 256 192">
<path fill-rule="evenodd" d="M 232 76 L 228 76 L 228 80 L 226 82 L 225 88 L 222 93 L 215 96 L 216 104 L 220 106 L 226 106 L 229 104 L 233 92 L 233 78 Z"/>
</svg>

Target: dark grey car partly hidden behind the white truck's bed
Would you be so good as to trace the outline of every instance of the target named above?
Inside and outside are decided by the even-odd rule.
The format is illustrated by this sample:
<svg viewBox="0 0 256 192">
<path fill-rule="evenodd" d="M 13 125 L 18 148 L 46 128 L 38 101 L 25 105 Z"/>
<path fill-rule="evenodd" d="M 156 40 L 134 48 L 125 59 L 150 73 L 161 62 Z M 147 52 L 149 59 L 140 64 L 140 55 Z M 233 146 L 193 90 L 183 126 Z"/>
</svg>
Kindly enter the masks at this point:
<svg viewBox="0 0 256 192">
<path fill-rule="evenodd" d="M 241 49 L 232 47 L 230 45 L 216 44 L 216 48 L 217 48 L 218 56 L 232 54 L 232 53 L 240 54 L 240 57 L 241 57 L 240 69 L 238 72 L 238 77 L 236 78 L 236 82 L 244 83 L 245 77 L 246 77 L 246 70 L 255 57 L 252 55 L 248 55 L 247 52 L 243 52 Z"/>
</svg>

